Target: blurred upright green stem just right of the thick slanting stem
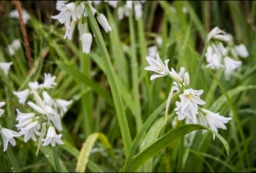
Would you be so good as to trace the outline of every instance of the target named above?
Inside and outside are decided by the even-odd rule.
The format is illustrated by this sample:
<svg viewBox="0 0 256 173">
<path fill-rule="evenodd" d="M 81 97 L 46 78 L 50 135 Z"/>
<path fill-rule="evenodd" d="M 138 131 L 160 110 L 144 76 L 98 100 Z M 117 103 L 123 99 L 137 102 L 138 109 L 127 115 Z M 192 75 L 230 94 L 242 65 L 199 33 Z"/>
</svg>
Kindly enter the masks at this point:
<svg viewBox="0 0 256 173">
<path fill-rule="evenodd" d="M 136 41 L 135 41 L 135 32 L 133 25 L 133 15 L 129 15 L 129 29 L 130 29 L 130 39 L 131 39 L 131 66 L 132 66 L 132 79 L 133 79 L 133 99 L 135 107 L 135 121 L 137 131 L 143 126 L 143 120 L 141 115 L 141 103 L 140 103 L 140 94 L 139 94 L 139 80 L 138 80 L 138 63 L 136 60 Z"/>
</svg>

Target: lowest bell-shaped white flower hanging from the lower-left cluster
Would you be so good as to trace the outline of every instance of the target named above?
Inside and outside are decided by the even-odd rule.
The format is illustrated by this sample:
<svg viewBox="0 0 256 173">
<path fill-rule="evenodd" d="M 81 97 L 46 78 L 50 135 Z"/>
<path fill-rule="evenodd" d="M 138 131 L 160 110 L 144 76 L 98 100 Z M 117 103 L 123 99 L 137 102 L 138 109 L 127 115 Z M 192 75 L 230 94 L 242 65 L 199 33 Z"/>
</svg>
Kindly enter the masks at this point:
<svg viewBox="0 0 256 173">
<path fill-rule="evenodd" d="M 61 134 L 57 135 L 54 127 L 48 127 L 48 134 L 46 138 L 43 138 L 42 141 L 44 141 L 43 146 L 48 146 L 49 143 L 52 147 L 56 146 L 56 143 L 64 144 L 60 137 L 62 137 Z"/>
</svg>

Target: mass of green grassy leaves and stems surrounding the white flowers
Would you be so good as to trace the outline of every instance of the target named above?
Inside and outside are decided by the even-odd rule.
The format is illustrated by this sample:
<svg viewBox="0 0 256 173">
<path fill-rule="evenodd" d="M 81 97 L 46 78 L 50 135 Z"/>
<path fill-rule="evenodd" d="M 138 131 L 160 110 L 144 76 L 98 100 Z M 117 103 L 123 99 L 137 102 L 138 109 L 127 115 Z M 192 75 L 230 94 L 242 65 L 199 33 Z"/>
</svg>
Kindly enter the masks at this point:
<svg viewBox="0 0 256 173">
<path fill-rule="evenodd" d="M 13 91 L 26 89 L 28 82 L 43 82 L 44 73 L 50 73 L 57 83 L 48 90 L 50 96 L 73 100 L 62 117 L 63 130 L 58 131 L 64 145 L 58 144 L 55 151 L 42 146 L 36 155 L 38 141 L 25 143 L 24 137 L 17 137 L 16 146 L 8 144 L 6 152 L 1 142 L 0 171 L 256 170 L 255 2 L 147 1 L 139 20 L 134 15 L 119 20 L 117 8 L 101 3 L 97 9 L 107 16 L 112 26 L 109 33 L 86 4 L 93 40 L 88 55 L 82 53 L 77 27 L 71 41 L 63 39 L 64 25 L 50 19 L 56 12 L 43 14 L 33 9 L 37 3 L 23 5 L 31 15 L 27 22 L 33 57 L 30 68 L 19 21 L 9 17 L 15 6 L 0 1 L 0 62 L 13 62 L 7 76 L 0 70 L 0 102 L 6 103 L 1 107 L 5 114 L 0 125 L 17 131 L 16 108 L 23 112 L 30 109 L 27 102 L 18 103 Z M 235 45 L 242 43 L 249 52 L 229 81 L 223 70 L 206 68 L 207 35 L 215 26 L 231 34 Z M 152 73 L 144 70 L 148 66 L 147 48 L 157 45 L 156 37 L 163 40 L 157 53 L 163 61 L 169 59 L 169 68 L 178 72 L 184 66 L 191 86 L 204 90 L 204 108 L 232 117 L 226 130 L 216 133 L 208 127 L 178 121 L 174 111 L 177 94 L 165 125 L 165 100 L 173 81 L 167 76 L 151 81 Z M 22 46 L 11 56 L 6 47 L 16 38 Z M 28 100 L 35 101 L 33 97 Z M 202 135 L 202 129 L 210 132 Z M 223 145 L 218 138 L 213 140 L 212 134 Z M 55 152 L 59 158 L 53 156 Z"/>
</svg>

